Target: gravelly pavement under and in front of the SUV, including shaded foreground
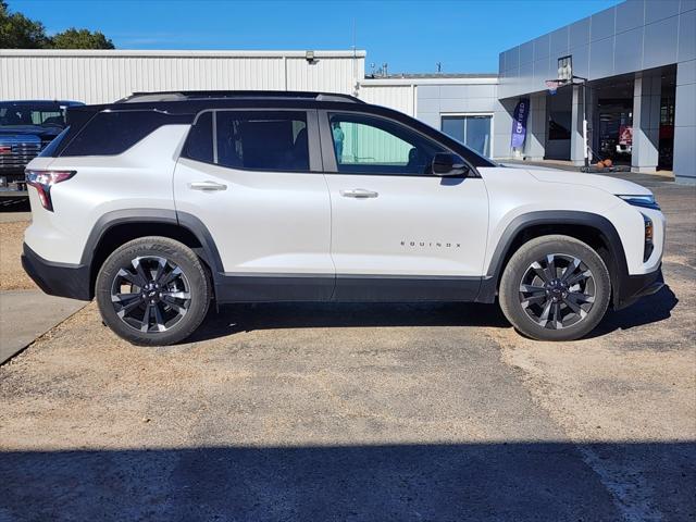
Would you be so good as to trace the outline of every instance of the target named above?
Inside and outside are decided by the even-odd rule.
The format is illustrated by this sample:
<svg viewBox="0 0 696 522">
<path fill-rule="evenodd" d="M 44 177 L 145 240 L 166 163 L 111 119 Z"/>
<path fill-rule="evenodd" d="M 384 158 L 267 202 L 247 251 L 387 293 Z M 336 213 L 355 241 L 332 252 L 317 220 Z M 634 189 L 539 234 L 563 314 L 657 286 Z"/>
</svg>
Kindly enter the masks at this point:
<svg viewBox="0 0 696 522">
<path fill-rule="evenodd" d="M 696 191 L 654 189 L 669 288 L 581 341 L 259 304 L 148 349 L 88 306 L 0 366 L 0 521 L 696 520 Z"/>
</svg>

